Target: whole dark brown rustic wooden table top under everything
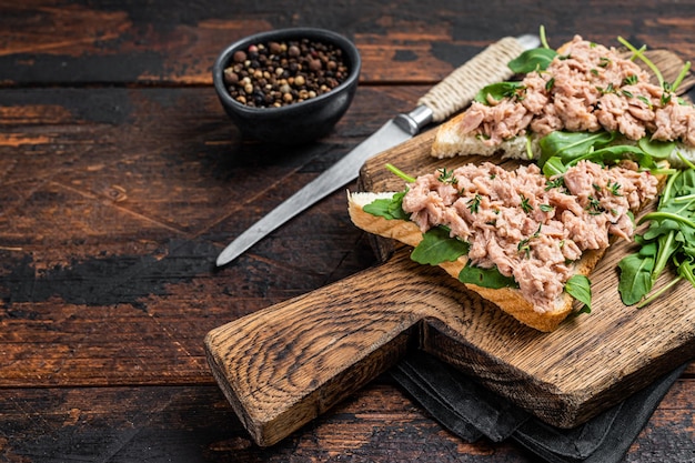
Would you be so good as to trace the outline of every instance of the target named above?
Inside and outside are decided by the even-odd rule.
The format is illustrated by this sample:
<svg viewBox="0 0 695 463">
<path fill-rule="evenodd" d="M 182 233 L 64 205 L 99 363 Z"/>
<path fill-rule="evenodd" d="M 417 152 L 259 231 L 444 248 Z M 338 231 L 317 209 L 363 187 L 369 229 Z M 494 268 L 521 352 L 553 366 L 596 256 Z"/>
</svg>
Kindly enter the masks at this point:
<svg viewBox="0 0 695 463">
<path fill-rule="evenodd" d="M 208 368 L 228 321 L 375 263 L 342 191 L 221 270 L 228 241 L 502 36 L 623 36 L 695 58 L 695 3 L 2 1 L 0 461 L 533 462 L 464 444 L 386 375 L 280 444 L 249 439 Z M 363 57 L 326 138 L 242 140 L 210 70 L 246 34 L 314 26 Z M 628 462 L 695 461 L 695 369 Z"/>
</svg>

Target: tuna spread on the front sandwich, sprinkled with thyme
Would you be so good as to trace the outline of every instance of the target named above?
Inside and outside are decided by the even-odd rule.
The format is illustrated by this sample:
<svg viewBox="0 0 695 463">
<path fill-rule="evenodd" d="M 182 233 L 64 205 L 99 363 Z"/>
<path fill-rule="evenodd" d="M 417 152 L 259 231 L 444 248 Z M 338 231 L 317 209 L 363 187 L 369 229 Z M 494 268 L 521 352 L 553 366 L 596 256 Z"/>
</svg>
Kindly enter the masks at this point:
<svg viewBox="0 0 695 463">
<path fill-rule="evenodd" d="M 631 239 L 628 215 L 657 194 L 657 179 L 632 162 L 580 161 L 546 179 L 536 164 L 437 170 L 409 185 L 403 210 L 422 232 L 447 227 L 470 244 L 473 265 L 513 276 L 537 312 L 552 311 L 585 250 Z"/>
</svg>

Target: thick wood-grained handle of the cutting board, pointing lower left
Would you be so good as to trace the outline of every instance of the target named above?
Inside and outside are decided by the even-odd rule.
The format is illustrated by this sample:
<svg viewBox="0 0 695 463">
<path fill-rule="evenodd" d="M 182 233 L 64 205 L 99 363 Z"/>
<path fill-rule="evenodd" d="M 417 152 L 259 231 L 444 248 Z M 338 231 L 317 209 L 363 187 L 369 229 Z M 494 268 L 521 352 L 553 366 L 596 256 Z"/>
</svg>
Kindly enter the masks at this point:
<svg viewBox="0 0 695 463">
<path fill-rule="evenodd" d="M 405 353 L 417 322 L 442 305 L 412 265 L 395 259 L 208 333 L 213 375 L 259 445 L 285 437 Z"/>
</svg>

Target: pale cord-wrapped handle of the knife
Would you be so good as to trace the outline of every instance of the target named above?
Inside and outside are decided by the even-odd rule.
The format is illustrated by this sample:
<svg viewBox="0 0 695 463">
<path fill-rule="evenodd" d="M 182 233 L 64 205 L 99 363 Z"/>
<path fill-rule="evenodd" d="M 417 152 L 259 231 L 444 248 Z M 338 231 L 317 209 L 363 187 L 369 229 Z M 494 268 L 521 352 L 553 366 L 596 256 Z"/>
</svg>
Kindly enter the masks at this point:
<svg viewBox="0 0 695 463">
<path fill-rule="evenodd" d="M 514 73 L 507 63 L 533 48 L 532 38 L 505 37 L 488 46 L 434 85 L 417 103 L 430 108 L 433 122 L 449 119 L 469 105 L 483 87 L 508 80 Z"/>
</svg>

